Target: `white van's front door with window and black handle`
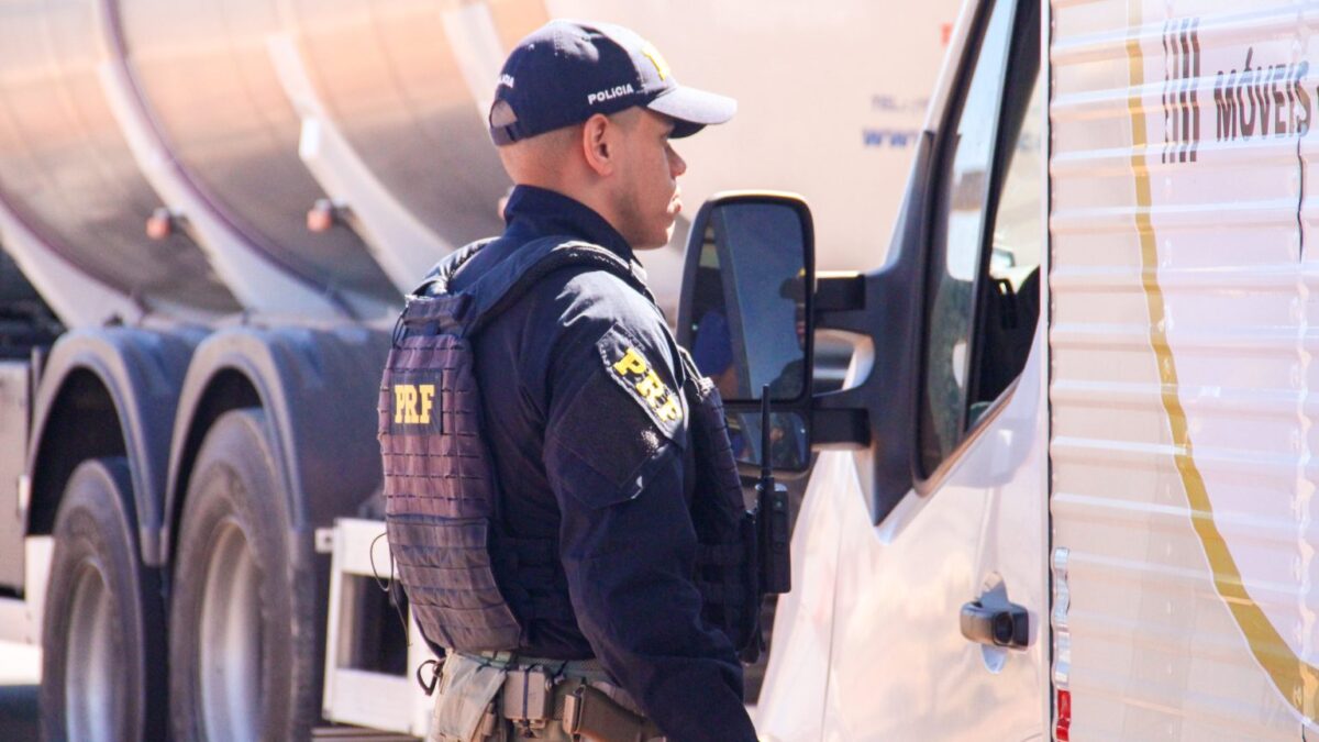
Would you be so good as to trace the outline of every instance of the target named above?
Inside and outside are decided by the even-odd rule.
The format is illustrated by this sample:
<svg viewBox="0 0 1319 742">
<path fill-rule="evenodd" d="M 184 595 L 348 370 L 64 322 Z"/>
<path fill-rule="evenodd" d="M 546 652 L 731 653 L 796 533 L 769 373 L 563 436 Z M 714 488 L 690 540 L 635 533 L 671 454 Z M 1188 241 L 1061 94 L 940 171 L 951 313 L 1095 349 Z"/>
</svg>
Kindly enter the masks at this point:
<svg viewBox="0 0 1319 742">
<path fill-rule="evenodd" d="M 826 739 L 1030 739 L 1049 724 L 1039 7 L 989 1 L 969 24 L 911 287 L 914 486 L 877 525 L 849 487 L 807 494 L 840 514 Z M 987 623 L 1010 609 L 1025 621 L 1001 638 L 1018 647 Z"/>
</svg>

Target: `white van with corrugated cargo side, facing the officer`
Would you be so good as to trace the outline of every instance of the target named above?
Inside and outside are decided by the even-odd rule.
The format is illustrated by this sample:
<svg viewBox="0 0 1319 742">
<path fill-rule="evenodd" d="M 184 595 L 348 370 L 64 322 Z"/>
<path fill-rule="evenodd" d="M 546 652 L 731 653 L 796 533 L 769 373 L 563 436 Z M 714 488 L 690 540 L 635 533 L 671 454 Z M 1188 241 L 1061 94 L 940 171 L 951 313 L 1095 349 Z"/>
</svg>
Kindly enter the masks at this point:
<svg viewBox="0 0 1319 742">
<path fill-rule="evenodd" d="M 811 364 L 798 308 L 856 347 L 774 403 L 780 463 L 831 450 L 762 738 L 1319 738 L 1316 22 L 972 3 L 886 265 L 814 276 L 793 197 L 707 203 L 679 331 L 727 313 L 744 433 Z"/>
</svg>

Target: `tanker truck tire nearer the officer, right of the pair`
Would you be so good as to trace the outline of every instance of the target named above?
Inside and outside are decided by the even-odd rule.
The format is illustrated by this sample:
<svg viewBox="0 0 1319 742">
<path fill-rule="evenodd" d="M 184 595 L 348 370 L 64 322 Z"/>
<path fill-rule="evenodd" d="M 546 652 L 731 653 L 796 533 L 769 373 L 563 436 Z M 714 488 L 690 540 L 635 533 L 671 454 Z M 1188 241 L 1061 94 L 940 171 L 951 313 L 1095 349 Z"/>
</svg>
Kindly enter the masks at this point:
<svg viewBox="0 0 1319 742">
<path fill-rule="evenodd" d="M 282 481 L 262 411 L 215 421 L 174 556 L 170 716 L 179 742 L 309 739 L 319 720 L 318 576 Z"/>
</svg>

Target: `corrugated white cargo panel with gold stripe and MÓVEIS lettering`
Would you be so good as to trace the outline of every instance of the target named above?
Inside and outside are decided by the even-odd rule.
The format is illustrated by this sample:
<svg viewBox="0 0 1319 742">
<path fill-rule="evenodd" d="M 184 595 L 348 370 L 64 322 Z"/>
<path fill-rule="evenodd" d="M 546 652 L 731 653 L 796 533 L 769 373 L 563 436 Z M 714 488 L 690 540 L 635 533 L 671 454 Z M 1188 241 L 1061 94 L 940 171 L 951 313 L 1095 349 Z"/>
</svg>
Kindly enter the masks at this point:
<svg viewBox="0 0 1319 742">
<path fill-rule="evenodd" d="M 1059 0 L 1053 24 L 1063 726 L 1314 739 L 1319 7 Z"/>
</svg>

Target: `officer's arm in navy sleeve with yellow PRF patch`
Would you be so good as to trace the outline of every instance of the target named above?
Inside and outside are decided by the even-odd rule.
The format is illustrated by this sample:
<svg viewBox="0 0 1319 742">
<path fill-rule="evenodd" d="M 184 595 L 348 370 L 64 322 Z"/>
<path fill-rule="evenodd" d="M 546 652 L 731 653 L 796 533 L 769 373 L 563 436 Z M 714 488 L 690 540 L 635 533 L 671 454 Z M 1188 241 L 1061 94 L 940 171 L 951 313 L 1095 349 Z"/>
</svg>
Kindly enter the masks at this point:
<svg viewBox="0 0 1319 742">
<path fill-rule="evenodd" d="M 551 364 L 545 465 L 568 593 L 596 656 L 670 739 L 752 741 L 741 665 L 700 621 L 687 409 L 656 322 L 575 317 Z"/>
</svg>

